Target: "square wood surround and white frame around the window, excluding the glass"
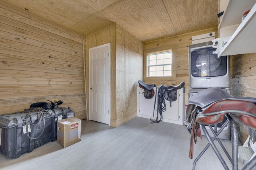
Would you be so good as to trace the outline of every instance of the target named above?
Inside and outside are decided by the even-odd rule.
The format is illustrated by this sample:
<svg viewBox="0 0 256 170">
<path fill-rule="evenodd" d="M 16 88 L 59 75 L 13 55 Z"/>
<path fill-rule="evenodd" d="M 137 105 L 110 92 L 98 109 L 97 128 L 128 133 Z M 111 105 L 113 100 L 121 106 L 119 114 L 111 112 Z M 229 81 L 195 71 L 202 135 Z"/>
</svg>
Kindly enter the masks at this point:
<svg viewBox="0 0 256 170">
<path fill-rule="evenodd" d="M 155 77 L 149 77 L 148 76 L 148 67 L 149 67 L 149 59 L 148 55 L 154 54 L 154 53 L 162 53 L 162 52 L 172 52 L 172 73 L 171 76 L 155 76 Z M 144 51 L 143 56 L 143 80 L 144 81 L 171 81 L 176 80 L 176 48 L 174 46 L 168 46 L 168 47 L 161 47 L 161 48 L 155 48 L 155 49 L 149 49 Z"/>
</svg>

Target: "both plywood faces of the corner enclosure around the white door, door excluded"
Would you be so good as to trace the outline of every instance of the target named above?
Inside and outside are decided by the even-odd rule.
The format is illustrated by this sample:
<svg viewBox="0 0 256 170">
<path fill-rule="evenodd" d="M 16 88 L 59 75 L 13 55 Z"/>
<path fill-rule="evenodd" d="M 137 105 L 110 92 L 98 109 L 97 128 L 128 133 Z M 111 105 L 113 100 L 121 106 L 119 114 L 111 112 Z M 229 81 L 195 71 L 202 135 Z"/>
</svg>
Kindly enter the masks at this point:
<svg viewBox="0 0 256 170">
<path fill-rule="evenodd" d="M 137 81 L 142 79 L 143 72 L 143 43 L 116 24 L 86 35 L 86 42 L 86 61 L 89 59 L 90 48 L 110 43 L 110 125 L 117 127 L 132 119 L 136 112 Z M 86 62 L 87 80 L 88 69 Z"/>
</svg>

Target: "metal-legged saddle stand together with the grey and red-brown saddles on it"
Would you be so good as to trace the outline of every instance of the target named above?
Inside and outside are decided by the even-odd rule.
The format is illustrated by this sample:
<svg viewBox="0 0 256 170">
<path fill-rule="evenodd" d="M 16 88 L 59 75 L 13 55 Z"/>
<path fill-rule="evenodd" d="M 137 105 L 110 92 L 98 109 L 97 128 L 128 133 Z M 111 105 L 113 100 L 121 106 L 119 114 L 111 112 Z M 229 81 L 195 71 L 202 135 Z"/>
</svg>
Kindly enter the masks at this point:
<svg viewBox="0 0 256 170">
<path fill-rule="evenodd" d="M 238 132 L 236 122 L 246 127 L 256 129 L 256 98 L 241 97 L 234 98 L 230 94 L 222 91 L 218 87 L 212 87 L 196 93 L 196 95 L 190 97 L 188 100 L 188 108 L 186 112 L 187 120 L 184 122 L 189 131 L 191 129 L 191 141 L 189 157 L 193 158 L 193 142 L 196 143 L 196 136 L 201 137 L 200 127 L 208 140 L 208 144 L 202 150 L 202 152 L 194 160 L 193 170 L 196 167 L 196 162 L 202 157 L 204 152 L 212 147 L 218 159 L 225 170 L 228 170 L 228 165 L 224 161 L 222 155 L 214 144 L 214 140 L 217 140 L 223 149 L 224 153 L 228 157 L 232 164 L 233 170 L 238 170 Z M 189 113 L 190 112 L 190 113 Z M 217 124 L 222 122 L 224 118 L 227 118 L 226 122 L 217 130 Z M 226 148 L 218 138 L 218 135 L 222 130 L 230 123 L 232 134 L 232 158 L 228 154 Z M 214 129 L 212 128 L 214 125 Z M 206 126 L 210 128 L 213 137 L 210 137 Z M 242 170 L 250 170 L 256 165 L 256 156 L 252 158 L 244 166 Z"/>
</svg>

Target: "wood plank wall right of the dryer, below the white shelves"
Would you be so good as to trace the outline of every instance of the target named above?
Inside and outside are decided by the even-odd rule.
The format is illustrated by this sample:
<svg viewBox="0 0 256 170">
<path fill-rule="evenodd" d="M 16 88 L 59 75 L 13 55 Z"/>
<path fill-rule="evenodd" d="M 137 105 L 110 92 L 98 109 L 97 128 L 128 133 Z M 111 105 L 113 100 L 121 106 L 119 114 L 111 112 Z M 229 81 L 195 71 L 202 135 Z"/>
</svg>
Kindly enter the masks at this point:
<svg viewBox="0 0 256 170">
<path fill-rule="evenodd" d="M 230 93 L 234 97 L 256 97 L 256 53 L 230 57 Z M 244 143 L 248 133 L 238 125 L 239 140 Z"/>
</svg>

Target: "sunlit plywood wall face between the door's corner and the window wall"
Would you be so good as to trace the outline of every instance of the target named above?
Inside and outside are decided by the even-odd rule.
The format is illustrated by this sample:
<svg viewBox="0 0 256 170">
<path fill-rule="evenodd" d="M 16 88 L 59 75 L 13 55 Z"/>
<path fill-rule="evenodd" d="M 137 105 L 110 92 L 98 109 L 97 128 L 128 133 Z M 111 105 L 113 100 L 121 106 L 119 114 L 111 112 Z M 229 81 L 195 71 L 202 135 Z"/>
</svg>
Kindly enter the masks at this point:
<svg viewBox="0 0 256 170">
<path fill-rule="evenodd" d="M 143 43 L 116 26 L 116 119 L 137 111 L 137 86 L 142 79 Z"/>
</svg>

